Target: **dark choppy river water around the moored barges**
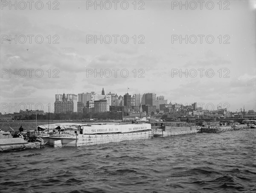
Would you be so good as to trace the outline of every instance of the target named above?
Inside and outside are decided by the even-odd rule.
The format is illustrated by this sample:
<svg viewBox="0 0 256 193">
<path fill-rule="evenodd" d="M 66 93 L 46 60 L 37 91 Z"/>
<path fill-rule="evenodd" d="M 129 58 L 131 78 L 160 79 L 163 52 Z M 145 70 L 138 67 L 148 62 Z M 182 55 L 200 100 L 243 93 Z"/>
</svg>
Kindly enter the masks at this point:
<svg viewBox="0 0 256 193">
<path fill-rule="evenodd" d="M 1 128 L 10 125 L 18 130 L 20 122 Z M 255 193 L 255 139 L 256 130 L 248 129 L 1 153 L 1 192 Z"/>
</svg>

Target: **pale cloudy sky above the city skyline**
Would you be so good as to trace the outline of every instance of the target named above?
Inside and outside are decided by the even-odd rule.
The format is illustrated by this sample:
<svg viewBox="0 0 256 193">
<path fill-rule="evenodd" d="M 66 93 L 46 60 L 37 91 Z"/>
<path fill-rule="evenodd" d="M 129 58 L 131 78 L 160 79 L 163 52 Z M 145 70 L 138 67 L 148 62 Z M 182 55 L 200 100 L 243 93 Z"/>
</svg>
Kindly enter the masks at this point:
<svg viewBox="0 0 256 193">
<path fill-rule="evenodd" d="M 1 0 L 2 114 L 102 88 L 256 111 L 255 0 L 96 3 Z"/>
</svg>

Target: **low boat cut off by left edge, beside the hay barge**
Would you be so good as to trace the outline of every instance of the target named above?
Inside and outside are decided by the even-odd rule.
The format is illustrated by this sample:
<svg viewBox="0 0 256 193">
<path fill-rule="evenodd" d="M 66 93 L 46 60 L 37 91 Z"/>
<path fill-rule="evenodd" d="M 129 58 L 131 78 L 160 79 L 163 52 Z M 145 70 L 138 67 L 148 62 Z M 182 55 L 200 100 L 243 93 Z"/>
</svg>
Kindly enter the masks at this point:
<svg viewBox="0 0 256 193">
<path fill-rule="evenodd" d="M 26 132 L 0 131 L 0 152 L 44 148 L 46 142 L 40 137 L 29 136 Z"/>
</svg>

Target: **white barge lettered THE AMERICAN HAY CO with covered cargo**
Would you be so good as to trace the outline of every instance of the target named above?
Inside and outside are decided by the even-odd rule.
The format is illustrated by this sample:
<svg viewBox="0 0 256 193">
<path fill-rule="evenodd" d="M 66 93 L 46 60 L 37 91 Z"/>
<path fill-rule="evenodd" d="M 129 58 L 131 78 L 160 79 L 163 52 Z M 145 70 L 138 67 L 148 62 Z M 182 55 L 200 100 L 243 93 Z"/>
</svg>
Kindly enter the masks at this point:
<svg viewBox="0 0 256 193">
<path fill-rule="evenodd" d="M 78 128 L 67 128 L 49 134 L 49 145 L 53 147 L 79 147 L 83 145 L 102 145 L 137 143 L 139 140 L 153 138 L 151 125 L 122 123 L 91 123 L 79 125 Z"/>
</svg>

